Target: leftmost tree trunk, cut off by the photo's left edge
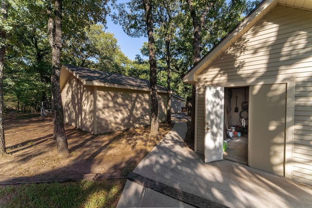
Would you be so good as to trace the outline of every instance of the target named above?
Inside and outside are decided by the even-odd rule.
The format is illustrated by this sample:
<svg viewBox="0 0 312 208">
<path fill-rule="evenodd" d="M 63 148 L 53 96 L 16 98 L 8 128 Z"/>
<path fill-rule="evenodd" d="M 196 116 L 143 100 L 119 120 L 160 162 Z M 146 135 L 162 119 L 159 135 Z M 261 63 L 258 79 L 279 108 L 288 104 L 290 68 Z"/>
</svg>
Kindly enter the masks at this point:
<svg viewBox="0 0 312 208">
<path fill-rule="evenodd" d="M 1 1 L 0 20 L 5 21 L 8 15 L 9 3 L 6 0 Z M 0 30 L 0 38 L 5 41 L 6 31 Z M 0 154 L 5 154 L 5 137 L 4 137 L 4 116 L 3 116 L 3 70 L 4 70 L 4 55 L 6 43 L 0 43 Z"/>
</svg>

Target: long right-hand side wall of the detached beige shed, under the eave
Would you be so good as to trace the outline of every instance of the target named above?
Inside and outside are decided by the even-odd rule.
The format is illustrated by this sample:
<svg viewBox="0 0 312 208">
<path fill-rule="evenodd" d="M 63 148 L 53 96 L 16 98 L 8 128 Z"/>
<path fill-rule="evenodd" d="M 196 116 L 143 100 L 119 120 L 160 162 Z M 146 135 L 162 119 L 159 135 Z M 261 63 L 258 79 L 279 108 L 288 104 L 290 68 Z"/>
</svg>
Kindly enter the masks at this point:
<svg viewBox="0 0 312 208">
<path fill-rule="evenodd" d="M 167 94 L 158 93 L 158 116 L 160 122 L 167 120 Z M 112 132 L 150 124 L 150 92 L 98 88 L 98 133 Z"/>
</svg>

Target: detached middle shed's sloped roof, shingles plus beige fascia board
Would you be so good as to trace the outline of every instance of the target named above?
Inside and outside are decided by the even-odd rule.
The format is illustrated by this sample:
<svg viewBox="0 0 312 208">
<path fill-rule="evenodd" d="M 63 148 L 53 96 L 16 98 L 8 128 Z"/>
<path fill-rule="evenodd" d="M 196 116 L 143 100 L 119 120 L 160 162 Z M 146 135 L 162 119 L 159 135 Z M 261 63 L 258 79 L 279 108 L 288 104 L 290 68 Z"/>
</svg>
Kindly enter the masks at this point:
<svg viewBox="0 0 312 208">
<path fill-rule="evenodd" d="M 70 64 L 63 64 L 62 68 L 66 69 L 68 72 L 77 77 L 83 85 L 94 85 L 143 91 L 149 91 L 150 89 L 150 81 L 146 79 L 124 76 L 115 73 L 108 73 L 84 67 L 73 66 Z M 62 85 L 62 80 L 60 82 Z M 160 85 L 157 85 L 157 90 L 160 92 L 167 92 L 167 88 Z"/>
</svg>

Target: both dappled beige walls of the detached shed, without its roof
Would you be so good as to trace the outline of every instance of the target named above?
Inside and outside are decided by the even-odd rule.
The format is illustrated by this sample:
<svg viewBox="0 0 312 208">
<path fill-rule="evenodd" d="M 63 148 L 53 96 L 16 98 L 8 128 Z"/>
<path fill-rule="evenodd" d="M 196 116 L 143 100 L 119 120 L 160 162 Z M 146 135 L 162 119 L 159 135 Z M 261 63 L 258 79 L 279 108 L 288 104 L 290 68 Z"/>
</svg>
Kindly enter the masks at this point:
<svg viewBox="0 0 312 208">
<path fill-rule="evenodd" d="M 97 115 L 97 133 L 112 132 L 150 124 L 150 94 L 148 91 L 98 87 L 97 112 L 94 113 L 94 87 L 83 86 L 70 76 L 62 90 L 64 119 L 79 129 L 94 132 Z M 158 116 L 165 122 L 167 94 L 158 93 Z"/>
</svg>

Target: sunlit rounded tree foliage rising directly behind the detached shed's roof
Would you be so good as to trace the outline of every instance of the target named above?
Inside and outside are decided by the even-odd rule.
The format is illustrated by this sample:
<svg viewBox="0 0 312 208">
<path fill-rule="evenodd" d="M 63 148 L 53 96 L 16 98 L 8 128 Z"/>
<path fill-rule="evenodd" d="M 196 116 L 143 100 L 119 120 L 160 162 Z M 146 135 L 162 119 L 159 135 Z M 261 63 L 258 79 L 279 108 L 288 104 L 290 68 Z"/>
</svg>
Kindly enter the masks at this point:
<svg viewBox="0 0 312 208">
<path fill-rule="evenodd" d="M 86 28 L 79 38 L 67 39 L 63 62 L 105 72 L 124 74 L 130 60 L 121 52 L 113 34 L 101 24 Z"/>
</svg>

